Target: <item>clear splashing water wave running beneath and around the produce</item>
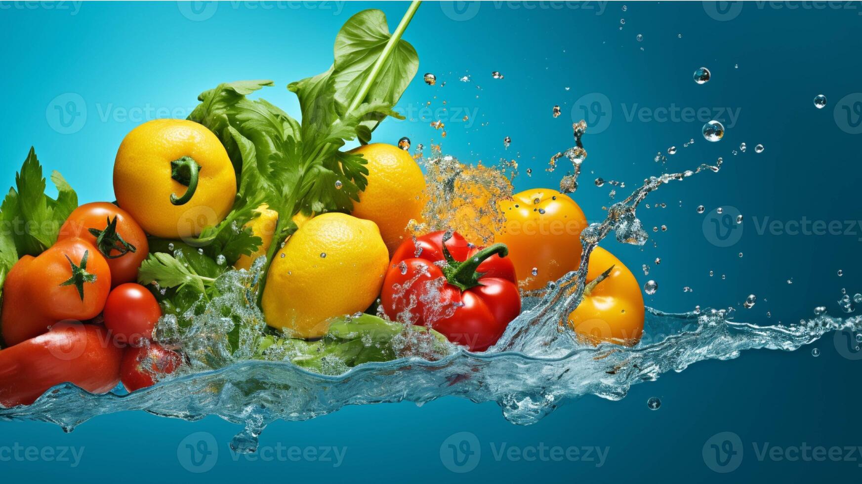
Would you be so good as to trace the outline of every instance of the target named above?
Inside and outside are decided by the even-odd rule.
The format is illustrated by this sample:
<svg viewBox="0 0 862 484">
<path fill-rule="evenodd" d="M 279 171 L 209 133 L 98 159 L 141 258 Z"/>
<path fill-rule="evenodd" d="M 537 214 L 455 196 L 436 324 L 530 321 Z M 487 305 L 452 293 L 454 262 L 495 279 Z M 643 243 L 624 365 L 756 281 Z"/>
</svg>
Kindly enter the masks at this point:
<svg viewBox="0 0 862 484">
<path fill-rule="evenodd" d="M 580 164 L 586 157 L 580 143 L 585 128 L 583 121 L 576 123 L 577 146 L 552 158 L 572 160 L 574 173 L 566 175 L 570 192 L 577 189 Z M 430 195 L 425 215 L 431 216 L 426 220 L 434 223 L 416 224 L 415 233 L 455 228 L 486 242 L 492 239 L 493 227 L 503 222 L 497 201 L 509 197 L 512 190 L 501 172 L 460 164 L 453 157 L 440 156 L 439 149 L 421 162 L 428 172 Z M 647 307 L 640 342 L 594 346 L 584 344 L 561 324 L 583 297 L 586 261 L 600 240 L 614 232 L 622 243 L 644 245 L 647 232 L 635 215 L 640 202 L 665 183 L 720 168 L 721 162 L 702 164 L 695 171 L 650 177 L 632 195 L 616 202 L 605 220 L 584 229 L 582 269 L 549 283 L 540 294 L 525 297 L 522 313 L 484 353 L 447 346 L 444 356 L 427 338 L 406 327 L 395 338 L 362 340 L 367 347 L 398 357 L 385 363 L 348 368 L 336 358 L 311 371 L 303 368 L 297 359 L 301 352 L 290 344 L 261 353 L 265 322 L 259 308 L 249 302 L 256 299 L 264 264 L 264 258 L 258 258 L 251 270 L 230 270 L 220 276 L 216 284 L 221 295 L 198 301 L 180 319 L 191 323 L 183 326 L 173 316 L 159 321 L 159 342 L 181 349 L 187 360 L 174 374 L 163 375 L 153 387 L 133 394 L 118 388 L 95 395 L 71 384 L 59 385 L 33 405 L 0 408 L 0 418 L 47 421 L 72 431 L 103 413 L 144 410 L 186 420 L 215 414 L 245 426 L 231 444 L 241 452 L 256 450 L 261 431 L 276 419 L 313 419 L 347 405 L 403 400 L 421 404 L 449 395 L 496 401 L 506 419 L 528 425 L 568 400 L 587 394 L 620 400 L 635 383 L 682 371 L 692 363 L 735 358 L 740 351 L 752 349 L 795 351 L 828 332 L 862 331 L 862 317 L 842 320 L 825 311 L 790 326 L 755 326 L 735 322 L 733 310 L 698 307 L 691 313 L 671 314 Z M 862 302 L 862 295 L 855 295 L 853 301 Z M 659 405 L 656 399 L 650 407 Z"/>
</svg>

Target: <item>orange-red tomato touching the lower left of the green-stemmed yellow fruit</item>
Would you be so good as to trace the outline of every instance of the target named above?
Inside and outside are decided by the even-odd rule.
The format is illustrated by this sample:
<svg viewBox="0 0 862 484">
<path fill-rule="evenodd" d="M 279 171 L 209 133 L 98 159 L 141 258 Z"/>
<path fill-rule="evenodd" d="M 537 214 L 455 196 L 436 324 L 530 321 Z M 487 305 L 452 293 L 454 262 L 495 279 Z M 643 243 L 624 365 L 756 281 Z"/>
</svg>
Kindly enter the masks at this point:
<svg viewBox="0 0 862 484">
<path fill-rule="evenodd" d="M 111 282 L 119 286 L 138 278 L 150 251 L 147 234 L 131 215 L 113 203 L 85 203 L 72 211 L 59 229 L 59 240 L 84 239 L 108 259 Z"/>
</svg>

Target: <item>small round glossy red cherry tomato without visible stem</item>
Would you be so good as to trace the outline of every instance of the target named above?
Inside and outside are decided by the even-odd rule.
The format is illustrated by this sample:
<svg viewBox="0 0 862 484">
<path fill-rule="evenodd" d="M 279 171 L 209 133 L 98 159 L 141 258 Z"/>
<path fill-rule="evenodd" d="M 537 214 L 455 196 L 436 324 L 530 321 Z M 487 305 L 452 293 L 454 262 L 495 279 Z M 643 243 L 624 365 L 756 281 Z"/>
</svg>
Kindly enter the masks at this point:
<svg viewBox="0 0 862 484">
<path fill-rule="evenodd" d="M 161 317 L 159 301 L 141 284 L 120 284 L 108 295 L 104 320 L 118 344 L 141 346 L 153 338 Z"/>
</svg>

